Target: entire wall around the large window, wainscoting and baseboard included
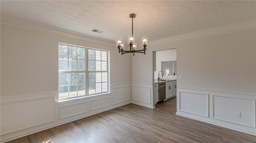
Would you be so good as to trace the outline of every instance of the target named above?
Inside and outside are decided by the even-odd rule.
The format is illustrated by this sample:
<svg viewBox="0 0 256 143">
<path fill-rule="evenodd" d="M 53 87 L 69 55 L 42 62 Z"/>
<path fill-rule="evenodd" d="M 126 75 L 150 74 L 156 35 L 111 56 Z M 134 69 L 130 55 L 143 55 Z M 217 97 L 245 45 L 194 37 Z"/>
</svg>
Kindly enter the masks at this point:
<svg viewBox="0 0 256 143">
<path fill-rule="evenodd" d="M 110 51 L 110 93 L 58 102 L 58 42 Z M 114 42 L 1 15 L 0 57 L 1 142 L 130 103 L 131 56 Z"/>
</svg>

